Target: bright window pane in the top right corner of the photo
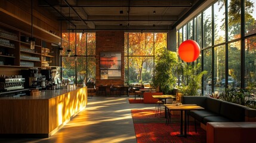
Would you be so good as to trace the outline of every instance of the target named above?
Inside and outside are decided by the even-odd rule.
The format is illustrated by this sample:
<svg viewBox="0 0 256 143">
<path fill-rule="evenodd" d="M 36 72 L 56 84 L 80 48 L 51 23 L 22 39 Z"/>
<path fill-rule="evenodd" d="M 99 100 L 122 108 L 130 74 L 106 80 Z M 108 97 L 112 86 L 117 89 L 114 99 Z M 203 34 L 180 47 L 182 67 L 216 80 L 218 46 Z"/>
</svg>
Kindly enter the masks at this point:
<svg viewBox="0 0 256 143">
<path fill-rule="evenodd" d="M 245 0 L 245 35 L 256 33 L 256 0 Z"/>
</svg>

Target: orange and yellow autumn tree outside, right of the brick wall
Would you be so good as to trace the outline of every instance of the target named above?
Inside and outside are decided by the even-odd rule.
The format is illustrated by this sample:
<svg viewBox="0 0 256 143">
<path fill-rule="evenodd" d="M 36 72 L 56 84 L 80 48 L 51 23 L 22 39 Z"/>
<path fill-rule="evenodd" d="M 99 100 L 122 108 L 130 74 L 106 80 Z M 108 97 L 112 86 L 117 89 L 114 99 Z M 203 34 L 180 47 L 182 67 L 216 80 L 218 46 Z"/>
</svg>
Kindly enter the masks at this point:
<svg viewBox="0 0 256 143">
<path fill-rule="evenodd" d="M 143 73 L 149 72 L 151 77 L 153 76 L 154 51 L 158 51 L 163 46 L 166 48 L 165 33 L 129 33 L 128 54 L 132 57 L 129 58 L 129 69 L 134 69 L 138 73 L 139 82 L 143 81 Z M 129 74 L 132 74 L 132 71 L 129 71 Z"/>
</svg>

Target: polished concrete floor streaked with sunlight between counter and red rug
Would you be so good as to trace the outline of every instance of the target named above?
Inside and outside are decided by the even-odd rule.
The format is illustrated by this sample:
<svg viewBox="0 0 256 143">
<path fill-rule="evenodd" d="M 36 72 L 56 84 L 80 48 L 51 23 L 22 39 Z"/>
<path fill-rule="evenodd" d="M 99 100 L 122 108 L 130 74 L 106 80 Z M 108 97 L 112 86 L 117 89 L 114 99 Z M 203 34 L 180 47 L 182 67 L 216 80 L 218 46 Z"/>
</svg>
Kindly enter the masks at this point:
<svg viewBox="0 0 256 143">
<path fill-rule="evenodd" d="M 129 104 L 133 97 L 93 97 L 87 108 L 46 139 L 3 139 L 0 142 L 137 142 L 132 109 L 155 108 L 155 104 Z"/>
</svg>

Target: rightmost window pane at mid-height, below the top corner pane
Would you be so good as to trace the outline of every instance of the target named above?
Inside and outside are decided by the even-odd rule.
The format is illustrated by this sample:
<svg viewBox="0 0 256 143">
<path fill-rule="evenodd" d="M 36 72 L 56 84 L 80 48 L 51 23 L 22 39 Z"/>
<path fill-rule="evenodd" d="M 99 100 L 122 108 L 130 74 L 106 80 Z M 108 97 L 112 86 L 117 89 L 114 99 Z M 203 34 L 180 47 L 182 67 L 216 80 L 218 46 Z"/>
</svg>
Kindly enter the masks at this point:
<svg viewBox="0 0 256 143">
<path fill-rule="evenodd" d="M 256 82 L 256 36 L 245 39 L 245 87 Z"/>
</svg>

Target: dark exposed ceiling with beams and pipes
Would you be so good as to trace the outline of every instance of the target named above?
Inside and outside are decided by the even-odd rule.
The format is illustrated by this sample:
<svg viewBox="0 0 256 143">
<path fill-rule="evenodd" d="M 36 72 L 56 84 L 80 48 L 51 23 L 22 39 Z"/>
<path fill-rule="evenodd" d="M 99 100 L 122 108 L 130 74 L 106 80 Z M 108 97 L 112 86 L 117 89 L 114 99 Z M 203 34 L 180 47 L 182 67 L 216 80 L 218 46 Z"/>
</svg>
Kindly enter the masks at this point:
<svg viewBox="0 0 256 143">
<path fill-rule="evenodd" d="M 171 30 L 206 0 L 39 0 L 77 30 Z M 155 12 L 154 12 L 155 11 Z"/>
</svg>

